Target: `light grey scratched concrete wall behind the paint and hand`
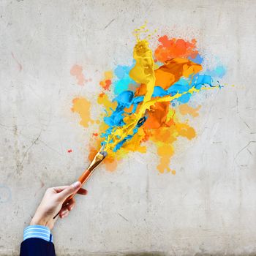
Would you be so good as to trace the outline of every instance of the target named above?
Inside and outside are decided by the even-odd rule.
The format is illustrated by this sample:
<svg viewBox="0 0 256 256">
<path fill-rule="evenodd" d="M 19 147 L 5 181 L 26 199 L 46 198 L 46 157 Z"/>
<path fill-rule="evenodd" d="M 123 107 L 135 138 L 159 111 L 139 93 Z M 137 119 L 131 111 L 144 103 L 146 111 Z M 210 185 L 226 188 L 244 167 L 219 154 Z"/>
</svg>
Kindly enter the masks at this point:
<svg viewBox="0 0 256 256">
<path fill-rule="evenodd" d="M 53 230 L 58 255 L 256 254 L 256 1 L 0 2 L 0 255 L 18 255 L 45 189 L 88 165 L 89 133 L 72 98 L 93 99 L 102 72 L 132 54 L 132 30 L 197 38 L 227 66 L 197 119 L 197 138 L 159 175 L 152 154 L 99 167 Z M 69 71 L 84 67 L 93 86 Z M 218 142 L 218 143 L 217 143 Z M 73 154 L 67 154 L 72 148 Z M 157 159 L 157 157 L 156 157 Z M 148 164 L 146 164 L 148 162 Z M 150 254 L 151 253 L 151 254 Z"/>
</svg>

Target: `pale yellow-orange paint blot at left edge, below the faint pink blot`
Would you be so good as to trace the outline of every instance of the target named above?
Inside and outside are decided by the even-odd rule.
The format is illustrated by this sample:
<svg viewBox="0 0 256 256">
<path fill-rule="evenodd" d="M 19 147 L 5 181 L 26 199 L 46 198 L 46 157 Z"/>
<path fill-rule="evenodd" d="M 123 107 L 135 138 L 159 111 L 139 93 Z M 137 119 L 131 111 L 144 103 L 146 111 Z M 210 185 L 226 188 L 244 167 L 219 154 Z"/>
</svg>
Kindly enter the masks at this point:
<svg viewBox="0 0 256 256">
<path fill-rule="evenodd" d="M 83 127 L 89 127 L 89 122 L 91 124 L 94 121 L 90 117 L 90 109 L 91 109 L 91 102 L 83 97 L 75 98 L 72 100 L 73 106 L 71 108 L 72 112 L 78 113 L 81 121 L 80 124 Z"/>
</svg>

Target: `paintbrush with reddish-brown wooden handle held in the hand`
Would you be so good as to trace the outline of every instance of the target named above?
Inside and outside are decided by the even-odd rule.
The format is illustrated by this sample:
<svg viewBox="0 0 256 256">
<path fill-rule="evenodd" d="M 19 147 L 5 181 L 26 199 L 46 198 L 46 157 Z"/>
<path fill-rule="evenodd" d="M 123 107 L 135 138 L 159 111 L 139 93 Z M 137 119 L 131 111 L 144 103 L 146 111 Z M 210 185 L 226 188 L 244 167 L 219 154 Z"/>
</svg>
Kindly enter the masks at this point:
<svg viewBox="0 0 256 256">
<path fill-rule="evenodd" d="M 104 151 L 104 146 L 102 146 L 99 151 L 97 152 L 97 154 L 95 155 L 94 159 L 91 161 L 91 164 L 89 165 L 89 167 L 83 172 L 83 174 L 78 178 L 78 181 L 80 181 L 80 183 L 85 184 L 86 181 L 89 179 L 89 177 L 91 176 L 91 173 L 93 173 L 93 171 L 96 169 L 96 167 L 105 159 L 105 157 L 107 157 L 107 152 Z M 75 194 L 73 195 L 69 195 L 69 197 L 67 197 L 67 199 L 64 201 L 64 203 L 62 204 L 62 206 L 66 206 L 66 204 L 69 202 L 69 200 L 71 200 L 73 197 L 75 196 Z M 57 216 L 59 215 L 56 214 L 55 217 L 53 217 L 53 219 L 55 219 Z"/>
</svg>

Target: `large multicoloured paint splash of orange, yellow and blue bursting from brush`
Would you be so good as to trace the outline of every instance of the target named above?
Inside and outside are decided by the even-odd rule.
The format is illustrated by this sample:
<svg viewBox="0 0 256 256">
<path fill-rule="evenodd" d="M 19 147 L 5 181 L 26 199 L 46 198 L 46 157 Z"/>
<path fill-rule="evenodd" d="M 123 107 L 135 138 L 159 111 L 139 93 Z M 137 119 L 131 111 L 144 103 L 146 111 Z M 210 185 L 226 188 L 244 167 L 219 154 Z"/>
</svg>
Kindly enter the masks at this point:
<svg viewBox="0 0 256 256">
<path fill-rule="evenodd" d="M 201 106 L 192 107 L 189 102 L 194 94 L 220 88 L 217 79 L 225 75 L 225 67 L 204 70 L 195 39 L 189 42 L 164 35 L 151 50 L 148 37 L 140 39 L 146 31 L 145 26 L 135 30 L 132 64 L 105 72 L 99 83 L 102 92 L 97 102 L 105 108 L 105 117 L 95 121 L 98 130 L 93 132 L 89 159 L 105 145 L 108 157 L 104 163 L 108 170 L 114 170 L 130 151 L 146 153 L 147 142 L 151 141 L 157 147 L 159 172 L 176 174 L 170 169 L 174 143 L 179 137 L 192 140 L 196 136 L 195 129 L 181 116 L 199 115 Z M 94 122 L 89 117 L 89 102 L 74 100 L 72 110 L 80 114 L 80 124 L 88 127 L 89 121 Z"/>
</svg>

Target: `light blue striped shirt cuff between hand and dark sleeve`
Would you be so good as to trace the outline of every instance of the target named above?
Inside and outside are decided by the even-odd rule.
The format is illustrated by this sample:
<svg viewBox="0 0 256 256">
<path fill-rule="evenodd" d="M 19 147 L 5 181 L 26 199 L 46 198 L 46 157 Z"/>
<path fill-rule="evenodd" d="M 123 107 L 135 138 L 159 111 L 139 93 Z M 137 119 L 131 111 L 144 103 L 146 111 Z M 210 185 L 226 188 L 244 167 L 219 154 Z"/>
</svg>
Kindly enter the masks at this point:
<svg viewBox="0 0 256 256">
<path fill-rule="evenodd" d="M 41 225 L 31 225 L 26 227 L 23 232 L 23 241 L 28 238 L 41 238 L 48 242 L 53 241 L 53 235 L 50 233 L 49 227 Z"/>
</svg>

